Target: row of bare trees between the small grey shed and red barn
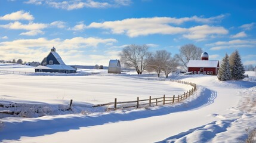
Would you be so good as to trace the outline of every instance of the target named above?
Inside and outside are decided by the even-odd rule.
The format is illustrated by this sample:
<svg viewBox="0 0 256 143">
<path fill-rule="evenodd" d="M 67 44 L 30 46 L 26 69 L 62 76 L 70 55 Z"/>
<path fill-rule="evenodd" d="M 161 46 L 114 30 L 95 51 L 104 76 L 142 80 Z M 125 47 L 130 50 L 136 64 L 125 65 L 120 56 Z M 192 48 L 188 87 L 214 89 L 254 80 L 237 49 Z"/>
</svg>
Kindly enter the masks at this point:
<svg viewBox="0 0 256 143">
<path fill-rule="evenodd" d="M 180 54 L 172 57 L 171 52 L 166 50 L 150 52 L 147 45 L 133 44 L 122 49 L 119 56 L 122 64 L 125 67 L 134 68 L 137 74 L 147 70 L 156 71 L 158 77 L 160 77 L 161 72 L 164 72 L 165 77 L 168 77 L 169 73 L 176 71 L 179 66 L 187 70 L 189 60 L 200 60 L 202 52 L 201 48 L 193 44 L 187 44 L 181 46 Z"/>
</svg>

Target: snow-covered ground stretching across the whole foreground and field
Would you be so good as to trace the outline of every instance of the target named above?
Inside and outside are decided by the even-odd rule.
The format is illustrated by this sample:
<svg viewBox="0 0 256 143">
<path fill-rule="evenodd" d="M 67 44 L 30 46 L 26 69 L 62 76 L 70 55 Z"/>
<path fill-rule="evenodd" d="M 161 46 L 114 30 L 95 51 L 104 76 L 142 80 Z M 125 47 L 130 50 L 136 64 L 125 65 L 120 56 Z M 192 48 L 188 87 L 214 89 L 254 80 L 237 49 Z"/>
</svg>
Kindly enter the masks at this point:
<svg viewBox="0 0 256 143">
<path fill-rule="evenodd" d="M 0 65 L 0 70 L 33 72 L 33 67 Z M 106 70 L 0 73 L 0 103 L 23 105 L 18 110 L 41 108 L 38 114 L 0 119 L 0 141 L 243 142 L 245 129 L 256 128 L 256 75 L 253 71 L 246 74 L 249 78 L 227 82 L 216 76 L 173 74 L 171 79 L 196 83 L 195 95 L 179 104 L 106 112 L 91 105 L 114 98 L 131 101 L 178 95 L 191 86 L 159 80 L 156 74 L 116 75 Z M 58 110 L 68 108 L 71 99 L 73 111 Z"/>
</svg>

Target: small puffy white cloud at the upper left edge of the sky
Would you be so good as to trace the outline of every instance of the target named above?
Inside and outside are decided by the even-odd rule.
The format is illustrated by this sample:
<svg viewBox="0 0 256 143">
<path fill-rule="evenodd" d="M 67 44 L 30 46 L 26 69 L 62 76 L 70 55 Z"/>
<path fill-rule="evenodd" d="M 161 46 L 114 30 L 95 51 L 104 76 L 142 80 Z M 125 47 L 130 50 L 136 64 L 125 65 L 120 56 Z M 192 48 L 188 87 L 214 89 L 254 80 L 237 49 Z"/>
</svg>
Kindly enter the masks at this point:
<svg viewBox="0 0 256 143">
<path fill-rule="evenodd" d="M 33 15 L 30 15 L 29 13 L 25 13 L 23 10 L 16 11 L 11 14 L 6 14 L 2 17 L 0 17 L 0 20 L 33 20 Z"/>
</svg>

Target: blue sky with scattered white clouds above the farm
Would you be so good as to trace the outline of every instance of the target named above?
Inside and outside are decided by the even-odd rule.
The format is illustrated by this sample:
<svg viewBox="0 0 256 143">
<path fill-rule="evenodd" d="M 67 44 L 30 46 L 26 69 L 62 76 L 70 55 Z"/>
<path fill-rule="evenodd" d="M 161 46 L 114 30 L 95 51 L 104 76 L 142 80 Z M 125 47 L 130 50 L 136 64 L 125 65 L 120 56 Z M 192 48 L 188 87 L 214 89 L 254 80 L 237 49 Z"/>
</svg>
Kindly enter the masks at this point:
<svg viewBox="0 0 256 143">
<path fill-rule="evenodd" d="M 256 66 L 256 1 L 0 0 L 0 60 L 107 66 L 127 45 L 172 56 L 188 43 L 222 60 L 238 49 Z"/>
</svg>

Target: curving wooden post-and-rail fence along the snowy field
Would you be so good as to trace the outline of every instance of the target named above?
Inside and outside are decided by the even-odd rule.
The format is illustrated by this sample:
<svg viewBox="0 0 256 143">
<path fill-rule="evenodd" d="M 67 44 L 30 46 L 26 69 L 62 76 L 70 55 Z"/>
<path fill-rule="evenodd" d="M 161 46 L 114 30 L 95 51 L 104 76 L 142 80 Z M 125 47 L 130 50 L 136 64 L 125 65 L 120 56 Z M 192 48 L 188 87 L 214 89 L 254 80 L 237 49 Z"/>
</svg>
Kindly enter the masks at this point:
<svg viewBox="0 0 256 143">
<path fill-rule="evenodd" d="M 173 95 L 172 97 L 166 97 L 165 95 L 163 97 L 158 97 L 158 98 L 152 98 L 151 96 L 149 99 L 146 100 L 140 100 L 139 97 L 137 97 L 137 100 L 134 101 L 118 101 L 115 98 L 114 102 L 109 102 L 106 104 L 97 104 L 92 107 L 101 107 L 101 106 L 109 106 L 111 105 L 112 107 L 107 107 L 107 110 L 117 110 L 120 108 L 140 108 L 140 107 L 147 107 L 147 106 L 157 106 L 157 105 L 165 105 L 165 104 L 174 104 L 175 102 L 180 102 L 182 100 L 185 100 L 189 98 L 191 95 L 194 94 L 196 91 L 196 84 L 191 83 L 191 82 L 185 82 L 181 80 L 171 80 L 171 82 L 178 82 L 186 85 L 193 86 L 192 89 L 190 89 L 187 92 L 184 92 L 184 94 L 181 95 Z M 128 105 L 130 104 L 130 105 Z M 119 106 L 118 106 L 119 105 Z"/>
</svg>

